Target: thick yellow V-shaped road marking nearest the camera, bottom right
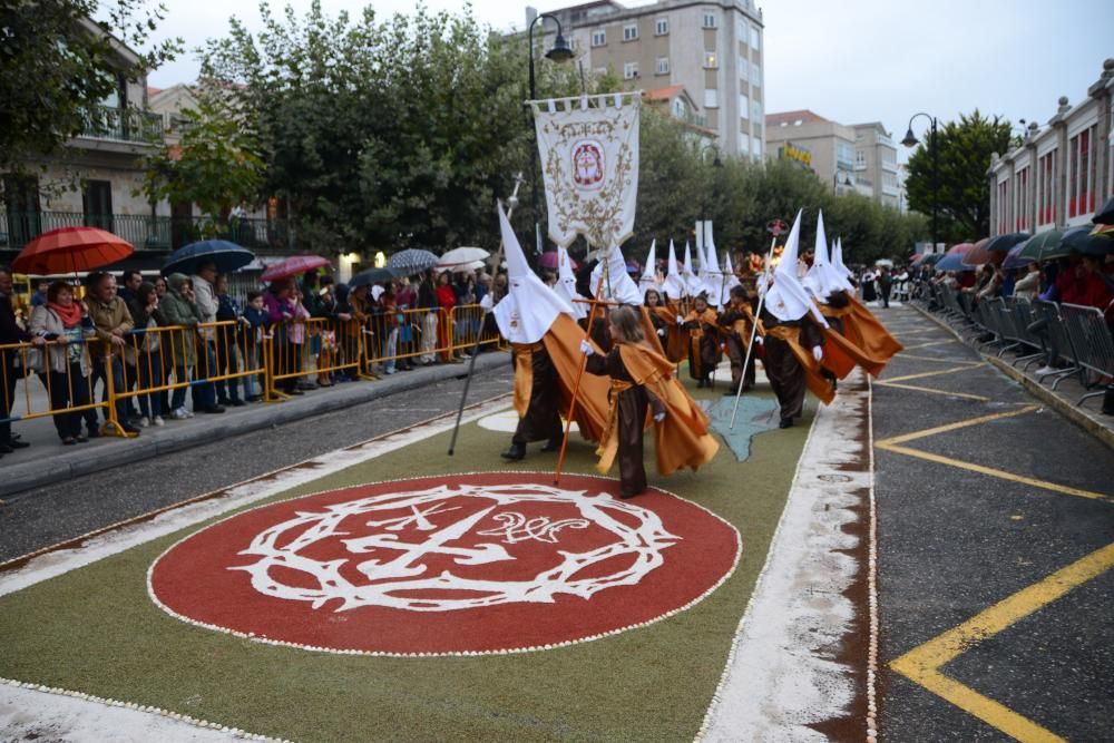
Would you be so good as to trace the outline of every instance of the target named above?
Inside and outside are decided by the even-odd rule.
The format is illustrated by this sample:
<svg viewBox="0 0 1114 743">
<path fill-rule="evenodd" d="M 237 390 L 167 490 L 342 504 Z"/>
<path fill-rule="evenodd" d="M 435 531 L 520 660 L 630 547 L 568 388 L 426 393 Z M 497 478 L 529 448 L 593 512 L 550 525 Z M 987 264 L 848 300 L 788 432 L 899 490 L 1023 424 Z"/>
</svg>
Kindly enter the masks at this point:
<svg viewBox="0 0 1114 743">
<path fill-rule="evenodd" d="M 1019 741 L 1062 741 L 1032 720 L 944 675 L 940 667 L 1112 567 L 1114 545 L 1107 545 L 909 651 L 890 667 Z"/>
</svg>

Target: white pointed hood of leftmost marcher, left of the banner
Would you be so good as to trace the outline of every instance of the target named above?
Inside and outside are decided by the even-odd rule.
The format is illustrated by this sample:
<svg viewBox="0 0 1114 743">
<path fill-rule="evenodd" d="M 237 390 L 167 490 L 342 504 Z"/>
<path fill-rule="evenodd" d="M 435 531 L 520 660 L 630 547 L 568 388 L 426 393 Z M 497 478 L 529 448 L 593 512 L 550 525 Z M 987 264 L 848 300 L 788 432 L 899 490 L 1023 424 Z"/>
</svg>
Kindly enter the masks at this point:
<svg viewBox="0 0 1114 743">
<path fill-rule="evenodd" d="M 499 332 L 511 343 L 537 343 L 557 320 L 557 315 L 571 315 L 573 307 L 530 271 L 501 204 L 499 229 L 507 257 L 509 291 L 495 305 L 495 321 L 499 325 Z"/>
</svg>

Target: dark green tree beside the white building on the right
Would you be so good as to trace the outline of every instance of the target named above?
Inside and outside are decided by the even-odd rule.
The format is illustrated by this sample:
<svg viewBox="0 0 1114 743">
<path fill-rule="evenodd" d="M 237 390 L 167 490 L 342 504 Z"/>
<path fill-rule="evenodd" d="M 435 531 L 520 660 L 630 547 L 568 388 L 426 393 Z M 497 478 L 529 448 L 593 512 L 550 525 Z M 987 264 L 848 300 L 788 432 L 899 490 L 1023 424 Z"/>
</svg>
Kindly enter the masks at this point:
<svg viewBox="0 0 1114 743">
<path fill-rule="evenodd" d="M 1013 146 L 1008 119 L 987 118 L 978 109 L 960 115 L 937 130 L 938 178 L 934 180 L 931 135 L 926 135 L 909 158 L 906 190 L 909 208 L 931 215 L 938 209 L 939 239 L 952 243 L 990 232 L 990 187 L 986 170 L 991 153 Z M 927 236 L 927 233 L 926 233 Z"/>
</svg>

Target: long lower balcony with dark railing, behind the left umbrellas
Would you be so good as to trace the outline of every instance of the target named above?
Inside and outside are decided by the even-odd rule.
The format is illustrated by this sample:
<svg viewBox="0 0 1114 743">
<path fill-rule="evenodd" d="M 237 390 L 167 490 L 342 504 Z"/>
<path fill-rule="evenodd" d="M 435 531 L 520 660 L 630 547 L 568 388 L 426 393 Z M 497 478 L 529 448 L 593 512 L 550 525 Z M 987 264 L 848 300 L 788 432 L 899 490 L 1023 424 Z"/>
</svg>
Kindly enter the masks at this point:
<svg viewBox="0 0 1114 743">
<path fill-rule="evenodd" d="M 257 250 L 287 247 L 286 223 L 275 219 L 168 217 L 141 214 L 74 212 L 6 212 L 0 209 L 0 250 L 19 251 L 45 232 L 58 227 L 100 227 L 123 237 L 137 251 L 170 251 L 198 239 L 219 237 Z"/>
</svg>

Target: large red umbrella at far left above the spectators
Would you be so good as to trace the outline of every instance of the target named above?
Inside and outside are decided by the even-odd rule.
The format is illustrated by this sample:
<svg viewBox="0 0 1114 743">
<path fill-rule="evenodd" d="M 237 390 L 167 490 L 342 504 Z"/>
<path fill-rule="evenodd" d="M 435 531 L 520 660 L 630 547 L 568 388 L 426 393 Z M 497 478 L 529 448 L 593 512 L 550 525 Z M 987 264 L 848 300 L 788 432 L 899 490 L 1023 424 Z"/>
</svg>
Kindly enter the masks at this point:
<svg viewBox="0 0 1114 743">
<path fill-rule="evenodd" d="M 123 261 L 135 251 L 123 237 L 97 227 L 59 227 L 28 243 L 11 267 L 36 276 L 77 273 Z"/>
</svg>

